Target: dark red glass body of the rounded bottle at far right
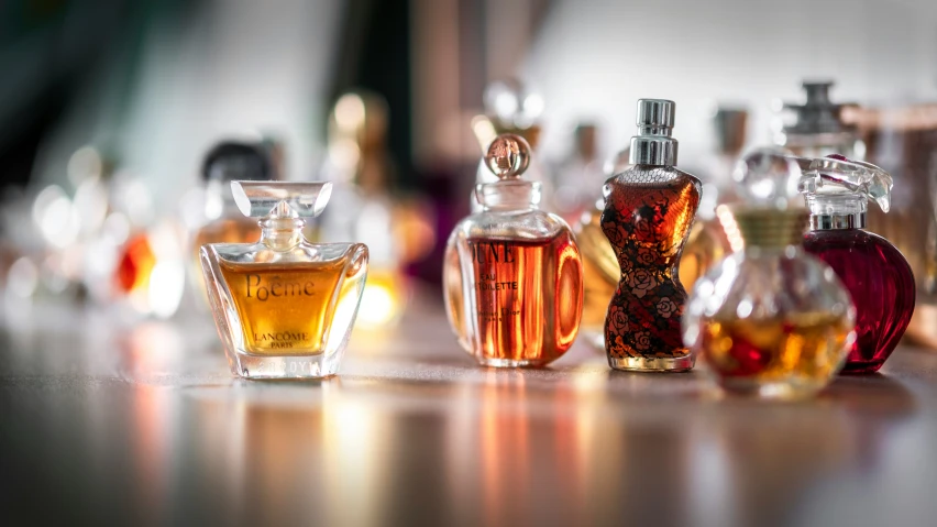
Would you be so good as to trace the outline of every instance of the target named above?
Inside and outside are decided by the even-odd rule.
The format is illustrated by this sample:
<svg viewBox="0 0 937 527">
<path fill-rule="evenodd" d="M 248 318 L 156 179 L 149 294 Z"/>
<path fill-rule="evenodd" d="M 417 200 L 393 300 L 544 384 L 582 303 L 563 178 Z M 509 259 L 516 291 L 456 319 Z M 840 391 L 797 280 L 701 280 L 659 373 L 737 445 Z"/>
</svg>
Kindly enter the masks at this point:
<svg viewBox="0 0 937 527">
<path fill-rule="evenodd" d="M 856 305 L 857 338 L 842 372 L 877 372 L 914 312 L 911 266 L 888 240 L 861 229 L 808 232 L 804 249 L 836 271 Z"/>
</svg>

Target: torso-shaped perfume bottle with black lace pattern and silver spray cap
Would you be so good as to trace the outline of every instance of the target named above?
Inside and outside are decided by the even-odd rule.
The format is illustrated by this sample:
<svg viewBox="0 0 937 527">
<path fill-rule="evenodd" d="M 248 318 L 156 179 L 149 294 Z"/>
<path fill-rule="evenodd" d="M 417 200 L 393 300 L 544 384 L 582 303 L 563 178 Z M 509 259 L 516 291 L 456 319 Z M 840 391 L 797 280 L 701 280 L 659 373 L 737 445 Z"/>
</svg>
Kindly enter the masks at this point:
<svg viewBox="0 0 937 527">
<path fill-rule="evenodd" d="M 602 230 L 619 265 L 605 319 L 605 351 L 616 370 L 682 372 L 694 358 L 680 319 L 686 293 L 677 265 L 699 204 L 699 180 L 676 169 L 673 101 L 638 100 L 631 167 L 605 184 Z"/>
</svg>

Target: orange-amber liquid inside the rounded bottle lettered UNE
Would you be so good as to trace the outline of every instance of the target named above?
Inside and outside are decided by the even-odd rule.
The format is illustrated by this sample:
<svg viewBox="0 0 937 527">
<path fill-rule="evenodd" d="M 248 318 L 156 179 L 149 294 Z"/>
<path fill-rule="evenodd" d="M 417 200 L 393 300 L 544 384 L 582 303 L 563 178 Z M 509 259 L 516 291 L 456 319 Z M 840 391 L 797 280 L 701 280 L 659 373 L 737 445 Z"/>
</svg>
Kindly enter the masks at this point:
<svg viewBox="0 0 937 527">
<path fill-rule="evenodd" d="M 582 317 L 582 263 L 569 232 L 545 240 L 468 238 L 463 250 L 472 275 L 463 276 L 459 290 L 468 303 L 450 288 L 450 316 L 464 320 L 460 326 L 468 334 L 460 341 L 483 363 L 541 365 L 573 344 Z M 448 265 L 458 266 L 458 259 Z"/>
</svg>

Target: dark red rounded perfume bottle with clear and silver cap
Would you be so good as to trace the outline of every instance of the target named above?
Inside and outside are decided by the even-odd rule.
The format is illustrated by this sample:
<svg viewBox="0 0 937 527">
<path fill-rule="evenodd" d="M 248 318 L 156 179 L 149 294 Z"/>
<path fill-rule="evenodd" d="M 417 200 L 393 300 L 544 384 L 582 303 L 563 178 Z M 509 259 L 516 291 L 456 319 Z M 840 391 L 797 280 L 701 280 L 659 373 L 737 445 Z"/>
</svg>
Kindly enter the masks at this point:
<svg viewBox="0 0 937 527">
<path fill-rule="evenodd" d="M 875 372 L 904 334 L 916 290 L 901 251 L 864 230 L 869 199 L 889 211 L 892 178 L 842 156 L 800 161 L 800 188 L 811 210 L 804 248 L 836 271 L 856 304 L 856 342 L 844 372 Z"/>
</svg>

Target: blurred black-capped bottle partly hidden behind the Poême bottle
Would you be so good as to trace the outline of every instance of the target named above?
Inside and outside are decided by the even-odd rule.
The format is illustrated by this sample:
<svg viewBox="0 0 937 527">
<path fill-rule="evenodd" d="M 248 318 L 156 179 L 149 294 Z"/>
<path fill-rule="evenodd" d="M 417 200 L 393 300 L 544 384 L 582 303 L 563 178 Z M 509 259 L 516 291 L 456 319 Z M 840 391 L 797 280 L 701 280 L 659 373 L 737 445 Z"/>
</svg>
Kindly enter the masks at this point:
<svg viewBox="0 0 937 527">
<path fill-rule="evenodd" d="M 192 261 L 189 266 L 189 283 L 206 300 L 206 306 L 208 298 L 205 296 L 199 249 L 206 243 L 247 243 L 261 235 L 257 220 L 238 210 L 231 195 L 231 182 L 265 182 L 274 179 L 274 174 L 268 150 L 262 144 L 224 141 L 206 154 L 201 168 L 205 207 L 201 224 L 191 238 Z"/>
</svg>

